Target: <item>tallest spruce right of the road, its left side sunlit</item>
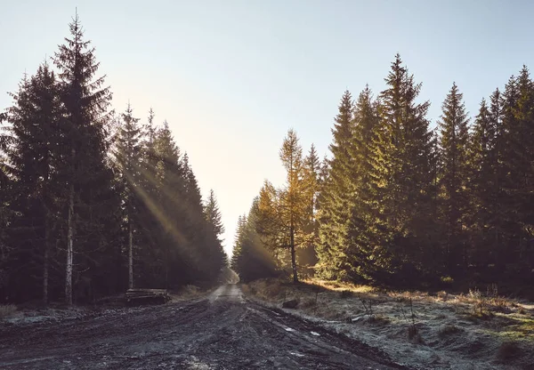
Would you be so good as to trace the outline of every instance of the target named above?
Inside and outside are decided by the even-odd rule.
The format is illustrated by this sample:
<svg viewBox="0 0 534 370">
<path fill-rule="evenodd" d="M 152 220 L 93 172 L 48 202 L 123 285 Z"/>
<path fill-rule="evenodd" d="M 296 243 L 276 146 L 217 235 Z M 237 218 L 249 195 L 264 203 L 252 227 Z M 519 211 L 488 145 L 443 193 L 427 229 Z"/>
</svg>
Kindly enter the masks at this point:
<svg viewBox="0 0 534 370">
<path fill-rule="evenodd" d="M 384 278 L 397 269 L 421 269 L 433 195 L 433 141 L 426 119 L 430 103 L 417 103 L 421 84 L 414 82 L 399 54 L 385 82 L 371 172 L 371 202 L 378 215 L 375 261 Z M 406 275 L 414 277 L 413 272 Z"/>
</svg>

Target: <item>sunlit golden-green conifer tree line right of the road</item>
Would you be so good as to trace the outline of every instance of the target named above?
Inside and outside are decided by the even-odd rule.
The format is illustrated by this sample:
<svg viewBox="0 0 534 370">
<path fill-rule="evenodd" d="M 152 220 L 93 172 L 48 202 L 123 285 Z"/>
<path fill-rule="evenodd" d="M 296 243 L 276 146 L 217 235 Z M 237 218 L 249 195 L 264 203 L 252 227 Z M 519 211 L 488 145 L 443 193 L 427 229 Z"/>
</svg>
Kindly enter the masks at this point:
<svg viewBox="0 0 534 370">
<path fill-rule="evenodd" d="M 430 102 L 419 96 L 421 84 L 399 54 L 385 83 L 376 95 L 368 86 L 356 99 L 343 94 L 328 159 L 320 161 L 313 148 L 303 157 L 295 132 L 287 133 L 280 151 L 286 184 L 277 189 L 266 181 L 240 219 L 234 269 L 242 276 L 258 271 L 246 261 L 263 254 L 271 258 L 261 261 L 274 264 L 270 274 L 289 266 L 295 281 L 314 273 L 390 286 L 531 285 L 534 84 L 528 68 L 482 99 L 474 117 L 453 83 L 435 125 L 427 117 Z"/>
</svg>

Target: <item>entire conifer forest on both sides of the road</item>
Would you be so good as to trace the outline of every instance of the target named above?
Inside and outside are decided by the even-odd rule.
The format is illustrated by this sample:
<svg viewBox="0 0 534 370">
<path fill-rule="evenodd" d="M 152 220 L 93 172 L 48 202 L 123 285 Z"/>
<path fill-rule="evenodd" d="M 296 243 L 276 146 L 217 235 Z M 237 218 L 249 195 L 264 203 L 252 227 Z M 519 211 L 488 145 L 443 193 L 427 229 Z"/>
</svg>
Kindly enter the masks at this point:
<svg viewBox="0 0 534 370">
<path fill-rule="evenodd" d="M 117 112 L 76 16 L 0 115 L 0 302 L 94 302 L 132 287 L 285 276 L 409 288 L 534 286 L 534 84 L 527 67 L 469 117 L 441 117 L 397 54 L 377 94 L 344 92 L 328 156 L 290 129 L 287 174 L 239 217 L 231 261 L 214 192 L 150 109 Z"/>
</svg>

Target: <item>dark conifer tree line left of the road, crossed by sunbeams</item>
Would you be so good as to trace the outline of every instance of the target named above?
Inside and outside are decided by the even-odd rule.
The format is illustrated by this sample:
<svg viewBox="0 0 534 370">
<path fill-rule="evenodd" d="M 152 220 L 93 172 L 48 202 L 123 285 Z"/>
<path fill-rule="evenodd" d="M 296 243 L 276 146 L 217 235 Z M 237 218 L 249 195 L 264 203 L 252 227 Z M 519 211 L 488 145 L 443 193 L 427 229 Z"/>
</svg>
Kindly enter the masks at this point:
<svg viewBox="0 0 534 370">
<path fill-rule="evenodd" d="M 155 113 L 111 109 L 76 16 L 0 116 L 0 300 L 93 302 L 213 283 L 227 264 L 212 191 Z"/>
</svg>

